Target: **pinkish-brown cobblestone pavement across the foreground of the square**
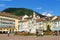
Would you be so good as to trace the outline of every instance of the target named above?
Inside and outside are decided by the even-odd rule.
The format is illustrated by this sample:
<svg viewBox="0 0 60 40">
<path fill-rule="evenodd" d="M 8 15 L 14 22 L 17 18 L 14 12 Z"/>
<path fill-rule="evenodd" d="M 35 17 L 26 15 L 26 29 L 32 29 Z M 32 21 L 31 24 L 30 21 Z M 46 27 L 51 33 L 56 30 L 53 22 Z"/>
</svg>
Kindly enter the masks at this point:
<svg viewBox="0 0 60 40">
<path fill-rule="evenodd" d="M 19 36 L 0 34 L 0 40 L 60 40 L 60 36 Z"/>
</svg>

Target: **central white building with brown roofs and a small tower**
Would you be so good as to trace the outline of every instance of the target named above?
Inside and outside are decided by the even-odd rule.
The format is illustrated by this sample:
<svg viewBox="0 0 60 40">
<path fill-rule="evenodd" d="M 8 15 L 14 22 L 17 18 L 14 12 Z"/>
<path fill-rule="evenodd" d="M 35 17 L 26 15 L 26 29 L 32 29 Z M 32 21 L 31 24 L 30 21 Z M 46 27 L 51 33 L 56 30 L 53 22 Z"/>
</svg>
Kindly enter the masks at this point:
<svg viewBox="0 0 60 40">
<path fill-rule="evenodd" d="M 33 17 L 28 17 L 27 15 L 22 17 L 22 20 L 19 21 L 19 31 L 26 31 L 30 33 L 36 33 L 36 29 L 44 29 L 43 19 L 39 16 L 36 16 L 35 12 Z"/>
</svg>

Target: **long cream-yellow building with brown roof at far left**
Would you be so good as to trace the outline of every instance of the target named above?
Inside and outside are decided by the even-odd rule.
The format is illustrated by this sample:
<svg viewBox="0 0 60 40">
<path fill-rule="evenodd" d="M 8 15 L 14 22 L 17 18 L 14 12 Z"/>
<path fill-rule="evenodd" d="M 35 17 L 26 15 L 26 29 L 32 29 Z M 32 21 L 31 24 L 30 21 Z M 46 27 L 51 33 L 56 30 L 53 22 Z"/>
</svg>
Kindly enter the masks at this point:
<svg viewBox="0 0 60 40">
<path fill-rule="evenodd" d="M 9 13 L 0 12 L 0 33 L 10 33 L 18 30 L 18 17 Z"/>
</svg>

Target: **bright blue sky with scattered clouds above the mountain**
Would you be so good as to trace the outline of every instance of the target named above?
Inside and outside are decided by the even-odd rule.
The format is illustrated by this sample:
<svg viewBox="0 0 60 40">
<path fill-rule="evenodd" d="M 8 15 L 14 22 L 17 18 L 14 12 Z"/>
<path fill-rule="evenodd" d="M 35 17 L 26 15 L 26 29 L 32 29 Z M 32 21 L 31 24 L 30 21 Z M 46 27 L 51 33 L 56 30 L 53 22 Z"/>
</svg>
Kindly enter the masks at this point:
<svg viewBox="0 0 60 40">
<path fill-rule="evenodd" d="M 28 8 L 40 14 L 60 16 L 60 0 L 0 0 L 0 11 L 6 8 Z"/>
</svg>

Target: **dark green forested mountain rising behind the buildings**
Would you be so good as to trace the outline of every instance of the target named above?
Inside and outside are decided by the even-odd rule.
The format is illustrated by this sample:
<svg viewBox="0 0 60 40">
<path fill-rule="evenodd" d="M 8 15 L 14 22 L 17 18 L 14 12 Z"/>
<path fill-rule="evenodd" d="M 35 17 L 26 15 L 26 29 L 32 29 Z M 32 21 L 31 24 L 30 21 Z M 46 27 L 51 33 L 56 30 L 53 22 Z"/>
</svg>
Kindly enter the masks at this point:
<svg viewBox="0 0 60 40">
<path fill-rule="evenodd" d="M 33 14 L 33 10 L 31 9 L 27 9 L 27 8 L 6 8 L 5 10 L 3 10 L 2 12 L 7 12 L 7 13 L 11 13 L 14 14 L 16 16 L 24 16 L 25 14 L 30 16 Z M 37 12 L 35 12 L 37 15 L 39 15 L 40 17 L 45 17 Z"/>
</svg>

